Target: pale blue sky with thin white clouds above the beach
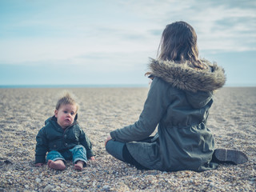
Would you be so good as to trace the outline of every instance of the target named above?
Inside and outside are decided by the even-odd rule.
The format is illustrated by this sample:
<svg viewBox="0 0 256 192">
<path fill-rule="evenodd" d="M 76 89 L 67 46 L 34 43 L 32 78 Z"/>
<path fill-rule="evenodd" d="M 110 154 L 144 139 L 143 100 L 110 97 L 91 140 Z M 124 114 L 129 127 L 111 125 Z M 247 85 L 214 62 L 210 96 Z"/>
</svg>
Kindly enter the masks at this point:
<svg viewBox="0 0 256 192">
<path fill-rule="evenodd" d="M 226 86 L 256 86 L 254 0 L 0 0 L 0 86 L 147 85 L 177 21 L 194 27 Z"/>
</svg>

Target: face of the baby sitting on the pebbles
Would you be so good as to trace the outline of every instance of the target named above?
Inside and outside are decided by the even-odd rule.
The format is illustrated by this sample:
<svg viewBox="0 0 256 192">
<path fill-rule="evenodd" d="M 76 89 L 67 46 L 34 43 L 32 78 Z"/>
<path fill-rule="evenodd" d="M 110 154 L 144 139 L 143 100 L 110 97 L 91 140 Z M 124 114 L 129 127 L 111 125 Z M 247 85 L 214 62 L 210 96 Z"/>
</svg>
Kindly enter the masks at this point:
<svg viewBox="0 0 256 192">
<path fill-rule="evenodd" d="M 59 109 L 54 112 L 58 125 L 60 125 L 62 129 L 66 129 L 66 127 L 70 126 L 74 122 L 76 111 L 77 106 L 75 105 L 67 104 L 60 106 Z"/>
</svg>

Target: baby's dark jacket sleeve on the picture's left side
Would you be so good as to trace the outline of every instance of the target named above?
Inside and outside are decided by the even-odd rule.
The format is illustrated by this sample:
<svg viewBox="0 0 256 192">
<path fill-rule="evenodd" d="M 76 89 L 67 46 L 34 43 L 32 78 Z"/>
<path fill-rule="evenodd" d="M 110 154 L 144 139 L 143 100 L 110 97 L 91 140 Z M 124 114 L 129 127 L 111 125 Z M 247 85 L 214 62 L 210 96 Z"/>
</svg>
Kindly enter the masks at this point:
<svg viewBox="0 0 256 192">
<path fill-rule="evenodd" d="M 49 150 L 49 147 L 47 145 L 48 141 L 44 127 L 39 130 L 36 141 L 37 145 L 35 148 L 35 163 L 46 162 L 46 152 Z"/>
</svg>

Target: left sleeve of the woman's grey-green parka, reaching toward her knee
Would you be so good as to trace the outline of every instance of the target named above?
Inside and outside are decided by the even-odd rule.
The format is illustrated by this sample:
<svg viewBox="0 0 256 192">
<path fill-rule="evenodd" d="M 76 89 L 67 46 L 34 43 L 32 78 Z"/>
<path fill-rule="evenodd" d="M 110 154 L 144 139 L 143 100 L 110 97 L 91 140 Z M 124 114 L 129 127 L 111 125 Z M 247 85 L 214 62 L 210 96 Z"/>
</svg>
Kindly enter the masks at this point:
<svg viewBox="0 0 256 192">
<path fill-rule="evenodd" d="M 118 142 L 132 142 L 149 137 L 170 105 L 170 98 L 167 94 L 168 87 L 170 86 L 167 82 L 155 77 L 151 82 L 150 90 L 138 121 L 133 125 L 110 132 L 111 138 Z"/>
</svg>

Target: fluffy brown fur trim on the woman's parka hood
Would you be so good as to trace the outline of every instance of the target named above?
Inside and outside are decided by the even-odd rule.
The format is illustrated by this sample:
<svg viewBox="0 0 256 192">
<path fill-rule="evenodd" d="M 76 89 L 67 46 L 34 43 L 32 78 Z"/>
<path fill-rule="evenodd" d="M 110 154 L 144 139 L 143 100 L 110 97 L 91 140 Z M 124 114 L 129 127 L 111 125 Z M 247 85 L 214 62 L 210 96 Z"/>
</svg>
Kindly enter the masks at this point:
<svg viewBox="0 0 256 192">
<path fill-rule="evenodd" d="M 189 62 L 177 63 L 150 59 L 150 71 L 155 77 L 169 82 L 181 90 L 192 92 L 212 91 L 220 89 L 226 82 L 226 75 L 222 67 L 206 59 L 201 60 L 208 69 L 194 70 Z"/>
</svg>

